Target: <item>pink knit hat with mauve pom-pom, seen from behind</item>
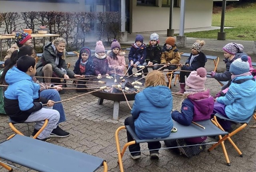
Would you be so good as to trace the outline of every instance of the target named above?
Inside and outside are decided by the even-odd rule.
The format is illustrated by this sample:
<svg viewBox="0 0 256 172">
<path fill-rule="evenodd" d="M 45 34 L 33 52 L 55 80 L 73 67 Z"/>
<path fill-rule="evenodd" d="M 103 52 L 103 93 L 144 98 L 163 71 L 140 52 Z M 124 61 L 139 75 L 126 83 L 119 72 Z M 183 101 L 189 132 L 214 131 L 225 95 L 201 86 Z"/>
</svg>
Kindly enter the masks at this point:
<svg viewBox="0 0 256 172">
<path fill-rule="evenodd" d="M 206 69 L 204 67 L 199 67 L 196 71 L 190 73 L 186 80 L 186 85 L 192 89 L 204 89 L 205 81 Z"/>
</svg>

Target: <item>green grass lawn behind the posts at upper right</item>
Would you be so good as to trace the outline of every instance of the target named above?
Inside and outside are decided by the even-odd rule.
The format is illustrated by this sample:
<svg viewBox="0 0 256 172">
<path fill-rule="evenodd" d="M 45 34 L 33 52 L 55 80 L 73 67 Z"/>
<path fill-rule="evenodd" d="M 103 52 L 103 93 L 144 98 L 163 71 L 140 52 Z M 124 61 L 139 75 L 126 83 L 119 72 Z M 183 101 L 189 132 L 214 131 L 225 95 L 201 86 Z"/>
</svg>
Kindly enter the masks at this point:
<svg viewBox="0 0 256 172">
<path fill-rule="evenodd" d="M 224 29 L 227 40 L 256 40 L 256 3 L 246 4 L 238 8 L 226 10 L 225 26 L 234 27 Z M 220 26 L 221 11 L 212 14 L 212 26 Z M 192 38 L 213 38 L 217 39 L 220 30 L 211 30 L 204 32 L 185 33 L 185 36 Z M 178 34 L 177 34 L 178 35 Z"/>
</svg>

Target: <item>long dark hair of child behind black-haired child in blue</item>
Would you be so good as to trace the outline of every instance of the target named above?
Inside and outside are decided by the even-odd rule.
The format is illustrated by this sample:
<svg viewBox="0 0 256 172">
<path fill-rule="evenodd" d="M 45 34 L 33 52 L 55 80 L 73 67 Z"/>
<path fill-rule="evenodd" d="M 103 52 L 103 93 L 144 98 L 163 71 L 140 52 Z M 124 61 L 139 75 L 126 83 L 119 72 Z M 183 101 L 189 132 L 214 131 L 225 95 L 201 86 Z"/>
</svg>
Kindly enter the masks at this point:
<svg viewBox="0 0 256 172">
<path fill-rule="evenodd" d="M 12 68 L 14 65 L 16 65 L 17 60 L 20 57 L 22 57 L 24 55 L 30 55 L 31 56 L 33 54 L 36 54 L 36 50 L 31 46 L 23 46 L 23 47 L 20 47 L 20 49 L 15 50 L 12 53 L 11 57 L 10 57 L 10 61 L 9 61 L 8 65 L 4 66 L 4 71 L 3 71 L 2 75 L 1 75 L 1 78 L 0 78 L 0 84 L 5 84 L 4 83 L 5 82 L 4 78 L 5 78 L 5 75 L 6 75 L 7 71 L 10 68 Z"/>
</svg>

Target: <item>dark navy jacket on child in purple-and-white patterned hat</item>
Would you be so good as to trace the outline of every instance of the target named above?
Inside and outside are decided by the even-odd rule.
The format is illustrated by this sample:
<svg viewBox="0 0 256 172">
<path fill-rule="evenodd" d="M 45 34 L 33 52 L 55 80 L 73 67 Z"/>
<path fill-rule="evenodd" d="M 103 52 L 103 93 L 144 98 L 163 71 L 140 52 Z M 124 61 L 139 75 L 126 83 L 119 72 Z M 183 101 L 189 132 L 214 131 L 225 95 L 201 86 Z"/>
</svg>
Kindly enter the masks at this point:
<svg viewBox="0 0 256 172">
<path fill-rule="evenodd" d="M 224 59 L 223 61 L 226 63 L 226 71 L 224 71 L 223 73 L 216 73 L 214 75 L 214 78 L 217 81 L 229 81 L 231 79 L 231 73 L 229 71 L 230 65 L 233 61 L 235 61 L 238 58 L 241 58 L 242 55 L 247 55 L 246 53 L 236 53 L 235 57 L 232 60 L 228 60 L 228 59 Z"/>
</svg>

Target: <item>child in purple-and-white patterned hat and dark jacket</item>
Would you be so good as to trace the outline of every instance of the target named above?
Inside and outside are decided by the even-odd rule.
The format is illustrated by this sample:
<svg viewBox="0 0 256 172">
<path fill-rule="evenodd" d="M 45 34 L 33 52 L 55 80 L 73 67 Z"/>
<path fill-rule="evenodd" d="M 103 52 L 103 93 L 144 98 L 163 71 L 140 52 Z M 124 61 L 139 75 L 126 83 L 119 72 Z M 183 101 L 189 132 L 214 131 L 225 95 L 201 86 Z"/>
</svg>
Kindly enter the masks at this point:
<svg viewBox="0 0 256 172">
<path fill-rule="evenodd" d="M 225 57 L 223 61 L 226 63 L 226 71 L 224 71 L 223 73 L 216 73 L 212 71 L 211 76 L 214 77 L 217 81 L 226 81 L 226 85 L 224 85 L 221 89 L 221 90 L 224 90 L 227 87 L 229 87 L 231 83 L 231 73 L 229 71 L 231 63 L 234 60 L 242 57 L 242 55 L 247 55 L 247 54 L 242 52 L 242 50 L 244 49 L 244 46 L 239 43 L 234 43 L 234 42 L 228 43 L 222 49 Z"/>
</svg>

